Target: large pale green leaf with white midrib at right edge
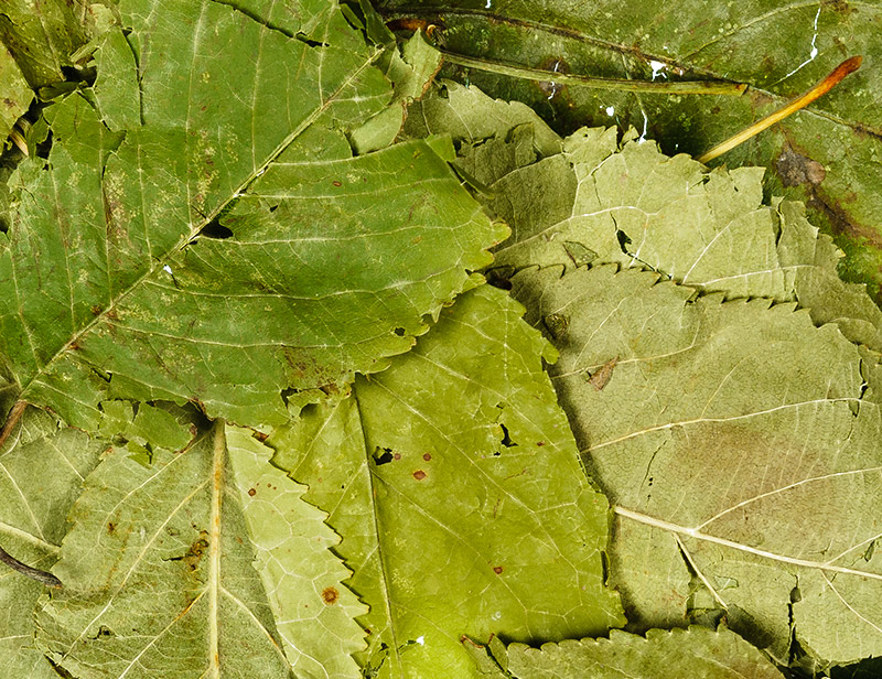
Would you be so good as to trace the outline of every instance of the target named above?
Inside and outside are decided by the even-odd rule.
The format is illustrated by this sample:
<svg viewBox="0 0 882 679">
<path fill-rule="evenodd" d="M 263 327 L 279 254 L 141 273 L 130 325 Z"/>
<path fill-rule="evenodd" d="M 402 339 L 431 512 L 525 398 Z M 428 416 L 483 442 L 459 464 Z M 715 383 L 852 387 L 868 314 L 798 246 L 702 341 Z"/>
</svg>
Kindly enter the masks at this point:
<svg viewBox="0 0 882 679">
<path fill-rule="evenodd" d="M 636 628 L 703 608 L 778 658 L 882 651 L 879 395 L 832 325 L 650 272 L 528 270 L 514 295 L 616 514 L 611 580 Z"/>
</svg>

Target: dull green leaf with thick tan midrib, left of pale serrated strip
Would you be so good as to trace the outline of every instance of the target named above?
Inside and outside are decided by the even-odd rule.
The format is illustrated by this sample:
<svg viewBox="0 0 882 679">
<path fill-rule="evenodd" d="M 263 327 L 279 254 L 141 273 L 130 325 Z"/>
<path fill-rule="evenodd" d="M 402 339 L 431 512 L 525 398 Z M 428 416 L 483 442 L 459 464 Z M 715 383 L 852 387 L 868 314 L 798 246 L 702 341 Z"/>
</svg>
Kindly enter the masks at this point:
<svg viewBox="0 0 882 679">
<path fill-rule="evenodd" d="M 157 448 L 151 462 L 115 448 L 86 479 L 53 569 L 65 586 L 37 617 L 41 649 L 84 679 L 290 679 L 243 539 L 248 517 L 224 425 L 184 452 Z"/>
</svg>

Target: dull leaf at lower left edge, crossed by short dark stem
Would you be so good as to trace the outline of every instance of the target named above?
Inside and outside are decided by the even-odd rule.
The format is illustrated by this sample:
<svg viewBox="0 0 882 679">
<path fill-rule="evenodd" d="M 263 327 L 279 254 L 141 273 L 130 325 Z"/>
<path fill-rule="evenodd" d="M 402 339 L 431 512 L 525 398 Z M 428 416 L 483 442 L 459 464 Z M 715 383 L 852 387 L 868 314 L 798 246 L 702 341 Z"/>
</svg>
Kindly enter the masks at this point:
<svg viewBox="0 0 882 679">
<path fill-rule="evenodd" d="M 0 452 L 0 545 L 7 552 L 33 568 L 52 567 L 79 484 L 105 448 L 106 441 L 60 428 L 45 412 L 25 411 Z M 0 572 L 0 657 L 9 676 L 57 677 L 34 645 L 33 608 L 44 591 L 6 567 Z"/>
</svg>

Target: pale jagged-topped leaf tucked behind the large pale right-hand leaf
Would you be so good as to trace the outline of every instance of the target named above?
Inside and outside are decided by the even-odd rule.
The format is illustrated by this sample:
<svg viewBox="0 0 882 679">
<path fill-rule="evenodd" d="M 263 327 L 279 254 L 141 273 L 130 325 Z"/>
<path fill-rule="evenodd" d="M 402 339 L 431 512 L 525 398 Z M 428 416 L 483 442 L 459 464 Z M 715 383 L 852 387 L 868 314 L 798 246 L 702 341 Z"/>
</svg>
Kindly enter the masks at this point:
<svg viewBox="0 0 882 679">
<path fill-rule="evenodd" d="M 761 169 L 707 172 L 633 133 L 620 143 L 614 128 L 580 130 L 563 141 L 562 153 L 549 154 L 541 125 L 494 119 L 499 104 L 474 87 L 458 96 L 467 115 L 494 120 L 463 138 L 459 165 L 490 187 L 478 198 L 512 227 L 496 249 L 503 270 L 649 268 L 729 298 L 798 301 L 816 323 L 835 322 L 850 340 L 882 349 L 882 312 L 862 285 L 839 279 L 841 254 L 802 205 L 763 204 Z M 415 115 L 423 114 L 431 132 L 464 133 L 444 101 L 439 94 L 427 98 Z"/>
</svg>

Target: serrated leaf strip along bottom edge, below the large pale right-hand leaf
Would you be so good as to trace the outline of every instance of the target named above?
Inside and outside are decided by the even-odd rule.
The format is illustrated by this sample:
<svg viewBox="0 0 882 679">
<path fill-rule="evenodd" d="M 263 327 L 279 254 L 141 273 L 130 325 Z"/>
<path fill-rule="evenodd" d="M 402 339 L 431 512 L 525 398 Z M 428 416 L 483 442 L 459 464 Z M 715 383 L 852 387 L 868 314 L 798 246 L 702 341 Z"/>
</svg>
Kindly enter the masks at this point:
<svg viewBox="0 0 882 679">
<path fill-rule="evenodd" d="M 783 677 L 762 653 L 725 627 L 649 629 L 646 638 L 613 629 L 609 639 L 570 639 L 541 648 L 512 644 L 504 662 L 517 679 Z"/>
</svg>

